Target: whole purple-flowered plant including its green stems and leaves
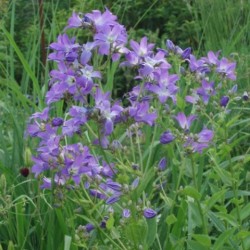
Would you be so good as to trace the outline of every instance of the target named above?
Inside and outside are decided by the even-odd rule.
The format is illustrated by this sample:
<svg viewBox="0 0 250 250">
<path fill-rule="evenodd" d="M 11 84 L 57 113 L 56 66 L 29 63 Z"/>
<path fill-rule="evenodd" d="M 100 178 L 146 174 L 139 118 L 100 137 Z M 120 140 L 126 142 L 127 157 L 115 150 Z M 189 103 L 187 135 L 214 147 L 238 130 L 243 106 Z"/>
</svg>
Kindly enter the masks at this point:
<svg viewBox="0 0 250 250">
<path fill-rule="evenodd" d="M 32 172 L 41 189 L 62 209 L 70 199 L 80 218 L 75 244 L 166 249 L 189 233 L 209 234 L 202 171 L 237 101 L 236 63 L 220 52 L 196 58 L 170 40 L 164 48 L 147 37 L 128 41 L 108 9 L 74 12 L 68 29 L 89 30 L 90 39 L 64 33 L 50 45 L 57 69 L 47 106 L 31 116 L 27 132 L 39 141 Z M 112 92 L 118 68 L 136 82 L 120 98 Z M 198 219 L 178 235 L 182 196 Z"/>
</svg>

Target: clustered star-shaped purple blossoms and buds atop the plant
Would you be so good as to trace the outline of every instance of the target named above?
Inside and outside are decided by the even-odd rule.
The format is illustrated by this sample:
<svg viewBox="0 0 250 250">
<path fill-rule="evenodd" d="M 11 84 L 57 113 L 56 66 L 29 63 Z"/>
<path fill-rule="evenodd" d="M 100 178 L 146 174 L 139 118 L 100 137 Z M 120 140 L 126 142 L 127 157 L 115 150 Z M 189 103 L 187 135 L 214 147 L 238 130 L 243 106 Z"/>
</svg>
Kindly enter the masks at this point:
<svg viewBox="0 0 250 250">
<path fill-rule="evenodd" d="M 27 129 L 39 139 L 32 172 L 42 177 L 43 189 L 72 189 L 83 182 L 89 194 L 105 205 L 125 204 L 120 210 L 124 219 L 132 215 L 153 218 L 157 209 L 151 208 L 150 201 L 140 202 L 140 197 L 131 195 L 143 182 L 145 169 L 153 167 L 143 166 L 140 143 L 151 136 L 145 131 L 153 128 L 161 144 L 181 143 L 189 153 L 202 153 L 214 133 L 208 122 L 201 122 L 202 112 L 195 112 L 214 101 L 219 108 L 227 106 L 229 95 L 218 90 L 226 79 L 236 79 L 235 63 L 211 51 L 196 59 L 190 48 L 182 50 L 170 40 L 163 49 L 147 37 L 130 40 L 128 45 L 125 27 L 108 9 L 85 15 L 74 12 L 65 30 L 71 28 L 89 29 L 93 40 L 80 44 L 65 33 L 50 45 L 54 52 L 49 59 L 57 63 L 57 69 L 50 72 L 47 107 L 31 116 Z M 121 68 L 136 72 L 139 83 L 124 95 L 125 102 L 113 100 L 112 89 L 107 87 L 114 77 L 110 65 L 119 60 Z M 103 70 L 107 67 L 108 73 Z M 63 117 L 53 115 L 57 102 L 64 103 Z M 193 128 L 194 121 L 202 129 Z M 133 147 L 139 147 L 138 152 Z M 163 156 L 158 169 L 164 171 L 166 165 Z M 130 199 L 140 204 L 136 213 Z M 90 232 L 94 226 L 84 228 Z"/>
</svg>

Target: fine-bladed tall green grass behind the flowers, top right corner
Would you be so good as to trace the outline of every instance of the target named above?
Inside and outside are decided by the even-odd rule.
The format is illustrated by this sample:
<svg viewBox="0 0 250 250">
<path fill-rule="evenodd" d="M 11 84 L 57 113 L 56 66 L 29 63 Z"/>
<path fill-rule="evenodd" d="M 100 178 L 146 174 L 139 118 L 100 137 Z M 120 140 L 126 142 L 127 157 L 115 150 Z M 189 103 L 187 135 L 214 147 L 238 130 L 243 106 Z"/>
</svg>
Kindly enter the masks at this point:
<svg viewBox="0 0 250 250">
<path fill-rule="evenodd" d="M 239 87 L 249 88 L 249 2 L 195 0 L 191 12 L 200 27 L 198 52 L 222 50 L 223 54 L 231 55 L 239 64 Z"/>
</svg>

